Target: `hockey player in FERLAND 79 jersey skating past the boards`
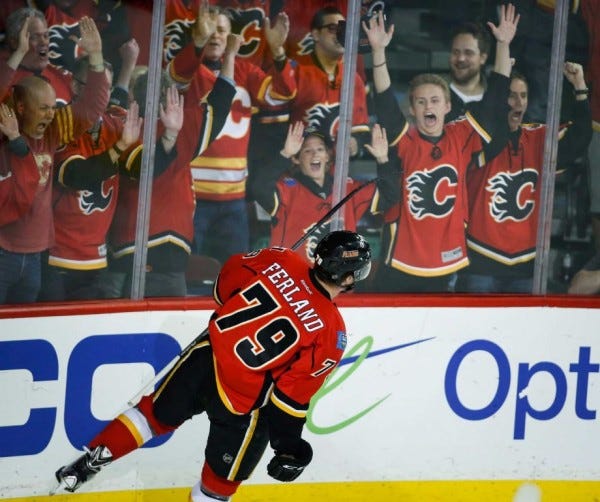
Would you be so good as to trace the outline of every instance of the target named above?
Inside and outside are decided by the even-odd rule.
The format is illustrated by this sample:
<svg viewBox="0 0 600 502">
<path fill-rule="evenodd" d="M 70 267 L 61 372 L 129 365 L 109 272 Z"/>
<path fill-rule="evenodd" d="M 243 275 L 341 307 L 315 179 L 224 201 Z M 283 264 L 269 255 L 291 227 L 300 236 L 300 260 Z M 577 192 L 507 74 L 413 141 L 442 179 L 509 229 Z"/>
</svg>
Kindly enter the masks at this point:
<svg viewBox="0 0 600 502">
<path fill-rule="evenodd" d="M 346 345 L 346 327 L 332 300 L 370 268 L 369 244 L 346 230 L 319 242 L 312 268 L 285 248 L 231 257 L 215 283 L 219 306 L 208 336 L 182 355 L 156 391 L 61 467 L 57 480 L 73 492 L 110 462 L 202 412 L 211 426 L 190 500 L 230 500 L 269 442 L 275 451 L 269 475 L 296 479 L 312 460 L 302 438 L 310 399 Z"/>
</svg>

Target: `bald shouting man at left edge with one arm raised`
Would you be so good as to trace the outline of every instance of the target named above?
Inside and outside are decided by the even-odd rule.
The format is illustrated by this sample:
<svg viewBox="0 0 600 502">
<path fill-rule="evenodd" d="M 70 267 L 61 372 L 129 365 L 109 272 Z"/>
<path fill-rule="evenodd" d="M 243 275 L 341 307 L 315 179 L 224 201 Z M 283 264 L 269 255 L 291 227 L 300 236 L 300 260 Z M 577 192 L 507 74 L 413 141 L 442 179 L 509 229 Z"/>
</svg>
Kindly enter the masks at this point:
<svg viewBox="0 0 600 502">
<path fill-rule="evenodd" d="M 89 55 L 90 71 L 79 102 L 56 108 L 52 86 L 37 76 L 21 79 L 12 95 L 20 135 L 20 153 L 31 152 L 39 181 L 27 212 L 0 227 L 0 303 L 33 302 L 40 288 L 40 253 L 54 242 L 52 169 L 56 150 L 92 126 L 106 109 L 109 85 L 104 70 L 102 42 L 90 18 L 80 20 L 78 43 Z M 0 93 L 6 89 L 0 89 Z M 10 172 L 11 166 L 5 166 Z M 3 175 L 8 175 L 6 171 Z"/>
</svg>

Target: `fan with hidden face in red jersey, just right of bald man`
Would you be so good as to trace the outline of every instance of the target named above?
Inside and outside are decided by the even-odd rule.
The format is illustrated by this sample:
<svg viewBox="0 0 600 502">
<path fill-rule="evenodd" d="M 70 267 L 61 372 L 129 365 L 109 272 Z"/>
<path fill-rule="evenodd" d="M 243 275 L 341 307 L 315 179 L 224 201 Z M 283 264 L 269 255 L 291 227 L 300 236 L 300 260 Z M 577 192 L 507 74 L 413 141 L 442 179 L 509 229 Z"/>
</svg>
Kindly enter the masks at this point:
<svg viewBox="0 0 600 502">
<path fill-rule="evenodd" d="M 112 69 L 106 65 L 112 82 Z M 77 100 L 87 81 L 87 58 L 78 60 L 73 70 Z M 52 195 L 55 242 L 43 263 L 39 301 L 102 297 L 106 236 L 119 192 L 119 152 L 137 142 L 141 125 L 136 102 L 128 110 L 112 105 L 85 134 L 57 152 Z"/>
</svg>

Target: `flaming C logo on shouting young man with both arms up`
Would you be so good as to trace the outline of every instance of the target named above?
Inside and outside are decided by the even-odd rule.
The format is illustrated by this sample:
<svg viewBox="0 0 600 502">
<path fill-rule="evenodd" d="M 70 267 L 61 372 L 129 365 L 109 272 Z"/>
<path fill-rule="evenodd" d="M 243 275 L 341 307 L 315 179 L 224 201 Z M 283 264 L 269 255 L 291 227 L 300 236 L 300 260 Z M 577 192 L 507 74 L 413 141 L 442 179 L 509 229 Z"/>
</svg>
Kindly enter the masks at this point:
<svg viewBox="0 0 600 502">
<path fill-rule="evenodd" d="M 427 217 L 444 218 L 450 214 L 456 202 L 457 183 L 458 174 L 449 165 L 411 174 L 406 178 L 411 214 L 417 220 Z"/>
</svg>

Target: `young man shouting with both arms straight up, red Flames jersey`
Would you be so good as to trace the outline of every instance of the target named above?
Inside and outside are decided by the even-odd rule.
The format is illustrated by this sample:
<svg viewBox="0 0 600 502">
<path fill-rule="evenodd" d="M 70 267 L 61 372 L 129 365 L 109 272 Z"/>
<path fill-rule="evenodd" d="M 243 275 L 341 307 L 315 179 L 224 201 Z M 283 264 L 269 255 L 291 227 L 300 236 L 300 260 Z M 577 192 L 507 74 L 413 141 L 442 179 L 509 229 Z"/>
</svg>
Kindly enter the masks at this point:
<svg viewBox="0 0 600 502">
<path fill-rule="evenodd" d="M 497 117 L 507 107 L 509 46 L 518 20 L 509 4 L 502 6 L 498 26 L 488 23 L 497 42 L 496 60 L 488 90 L 477 103 L 479 113 L 472 111 L 462 120 L 444 124 L 451 106 L 448 85 L 438 75 L 421 74 L 409 90 L 413 126 L 400 111 L 386 67 L 385 48 L 393 26 L 385 29 L 381 13 L 369 26 L 363 23 L 373 50 L 377 116 L 394 147 L 392 159 L 402 168 L 378 170 L 387 183 L 385 189 L 381 183 L 378 187 L 382 205 L 376 209 L 391 208 L 395 213 L 388 226 L 385 266 L 379 267 L 376 278 L 378 291 L 446 292 L 454 273 L 469 264 L 466 171 L 472 162 L 483 163 L 484 143 L 505 142 L 508 134 L 508 125 Z"/>
</svg>

